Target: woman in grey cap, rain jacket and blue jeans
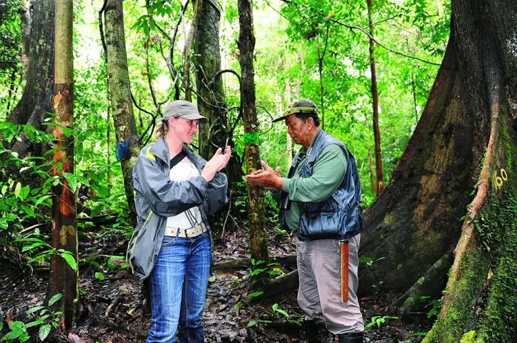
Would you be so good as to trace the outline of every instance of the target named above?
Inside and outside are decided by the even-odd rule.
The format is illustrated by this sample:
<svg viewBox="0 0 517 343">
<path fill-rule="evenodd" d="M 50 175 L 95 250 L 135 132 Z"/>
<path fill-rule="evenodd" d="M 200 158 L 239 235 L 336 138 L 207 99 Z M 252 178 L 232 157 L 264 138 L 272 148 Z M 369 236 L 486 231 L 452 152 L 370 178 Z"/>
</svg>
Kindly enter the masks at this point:
<svg viewBox="0 0 517 343">
<path fill-rule="evenodd" d="M 141 150 L 134 167 L 138 225 L 128 247 L 132 271 L 149 278 L 151 329 L 147 343 L 203 342 L 202 311 L 210 273 L 207 215 L 227 202 L 219 173 L 230 147 L 207 162 L 186 144 L 207 119 L 188 101 L 163 112 L 161 138 Z"/>
</svg>

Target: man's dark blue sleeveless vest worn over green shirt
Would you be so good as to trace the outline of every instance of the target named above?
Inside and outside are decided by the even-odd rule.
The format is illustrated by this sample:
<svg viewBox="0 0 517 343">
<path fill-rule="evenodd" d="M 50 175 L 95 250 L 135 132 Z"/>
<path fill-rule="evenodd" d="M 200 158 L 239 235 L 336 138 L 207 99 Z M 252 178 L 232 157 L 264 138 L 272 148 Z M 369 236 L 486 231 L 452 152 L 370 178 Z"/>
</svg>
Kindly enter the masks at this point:
<svg viewBox="0 0 517 343">
<path fill-rule="evenodd" d="M 300 169 L 300 176 L 309 178 L 319 154 L 327 145 L 339 145 L 347 157 L 345 178 L 330 198 L 321 202 L 299 202 L 300 223 L 298 238 L 304 242 L 318 239 L 345 240 L 363 229 L 361 208 L 361 183 L 357 173 L 356 160 L 341 141 L 320 129 L 307 158 Z M 281 214 L 283 217 L 283 213 Z M 281 218 L 283 222 L 283 218 Z"/>
</svg>

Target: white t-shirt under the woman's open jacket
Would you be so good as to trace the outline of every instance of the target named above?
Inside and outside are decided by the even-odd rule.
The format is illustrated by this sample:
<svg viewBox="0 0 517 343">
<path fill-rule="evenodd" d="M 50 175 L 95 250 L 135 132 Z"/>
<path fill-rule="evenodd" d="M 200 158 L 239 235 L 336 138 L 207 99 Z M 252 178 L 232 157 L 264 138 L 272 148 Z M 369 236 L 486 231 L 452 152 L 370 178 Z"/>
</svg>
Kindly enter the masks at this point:
<svg viewBox="0 0 517 343">
<path fill-rule="evenodd" d="M 183 158 L 180 163 L 176 164 L 169 171 L 169 177 L 173 181 L 184 181 L 190 178 L 196 178 L 197 176 L 199 176 L 199 171 L 188 158 Z M 201 212 L 199 208 L 195 206 L 187 209 L 187 211 L 181 212 L 181 214 L 168 217 L 166 226 L 190 229 L 191 227 L 200 225 L 201 222 L 203 222 Z"/>
</svg>

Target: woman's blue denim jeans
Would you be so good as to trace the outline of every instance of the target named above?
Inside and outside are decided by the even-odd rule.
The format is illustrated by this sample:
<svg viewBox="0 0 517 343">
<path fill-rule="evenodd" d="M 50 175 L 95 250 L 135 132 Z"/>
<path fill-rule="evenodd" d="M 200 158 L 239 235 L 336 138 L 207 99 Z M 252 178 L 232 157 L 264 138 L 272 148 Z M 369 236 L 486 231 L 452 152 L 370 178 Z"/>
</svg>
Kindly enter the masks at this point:
<svg viewBox="0 0 517 343">
<path fill-rule="evenodd" d="M 151 329 L 146 343 L 203 342 L 202 312 L 210 274 L 208 233 L 165 236 L 151 273 Z"/>
</svg>

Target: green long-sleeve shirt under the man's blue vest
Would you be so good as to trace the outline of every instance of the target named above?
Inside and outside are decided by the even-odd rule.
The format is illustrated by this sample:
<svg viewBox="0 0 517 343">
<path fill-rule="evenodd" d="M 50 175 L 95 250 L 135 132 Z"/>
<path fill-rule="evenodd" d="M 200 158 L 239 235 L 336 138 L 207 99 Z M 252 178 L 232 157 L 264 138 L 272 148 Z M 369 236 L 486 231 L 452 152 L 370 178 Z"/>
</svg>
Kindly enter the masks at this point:
<svg viewBox="0 0 517 343">
<path fill-rule="evenodd" d="M 305 147 L 301 152 L 306 152 Z M 329 198 L 338 189 L 347 170 L 347 157 L 339 145 L 331 144 L 325 147 L 314 163 L 312 175 L 309 178 L 300 176 L 302 160 L 292 178 L 284 178 L 282 190 L 289 193 L 292 201 L 289 211 L 285 211 L 287 227 L 297 230 L 300 222 L 300 207 L 298 202 L 320 202 Z M 281 190 L 272 190 L 272 195 L 278 200 Z"/>
</svg>

